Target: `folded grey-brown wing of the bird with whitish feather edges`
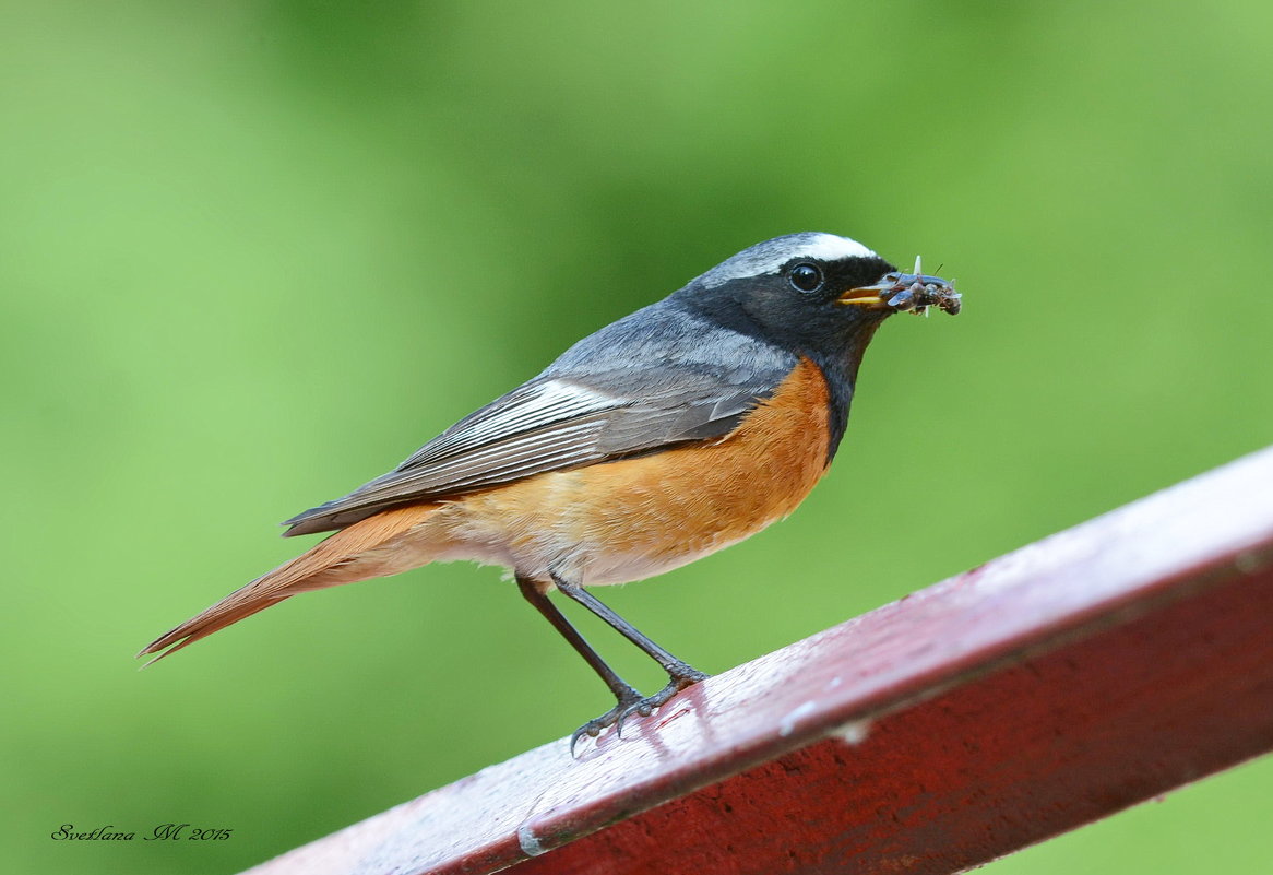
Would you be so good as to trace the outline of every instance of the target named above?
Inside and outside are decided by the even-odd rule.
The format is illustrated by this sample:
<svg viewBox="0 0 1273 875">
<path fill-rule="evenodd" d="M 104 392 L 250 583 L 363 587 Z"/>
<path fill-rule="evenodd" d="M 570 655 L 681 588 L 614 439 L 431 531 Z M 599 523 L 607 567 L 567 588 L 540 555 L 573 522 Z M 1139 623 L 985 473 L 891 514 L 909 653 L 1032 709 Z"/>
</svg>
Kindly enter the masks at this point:
<svg viewBox="0 0 1273 875">
<path fill-rule="evenodd" d="M 342 529 L 387 507 L 721 437 L 783 376 L 666 364 L 628 367 L 621 378 L 546 372 L 460 420 L 393 471 L 288 520 L 286 534 Z"/>
</svg>

